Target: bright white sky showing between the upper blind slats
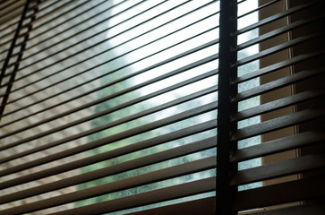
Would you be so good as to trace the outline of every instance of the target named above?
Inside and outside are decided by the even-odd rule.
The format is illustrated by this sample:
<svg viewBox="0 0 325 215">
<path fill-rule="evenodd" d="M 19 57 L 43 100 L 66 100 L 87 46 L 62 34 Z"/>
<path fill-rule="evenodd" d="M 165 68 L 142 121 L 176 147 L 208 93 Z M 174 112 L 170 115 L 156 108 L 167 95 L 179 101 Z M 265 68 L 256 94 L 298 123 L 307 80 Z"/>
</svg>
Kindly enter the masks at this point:
<svg viewBox="0 0 325 215">
<path fill-rule="evenodd" d="M 121 2 L 121 0 L 115 0 L 115 4 Z M 131 8 L 132 5 L 137 4 L 141 2 L 141 0 L 129 0 L 125 1 L 124 4 L 120 4 L 115 7 L 113 10 L 113 13 L 118 13 L 125 8 Z M 137 25 L 139 23 L 141 24 L 139 27 L 136 27 L 132 30 L 128 30 L 126 33 L 122 34 L 121 36 L 115 37 L 114 39 L 110 40 L 110 43 L 115 46 L 117 44 L 120 44 L 121 42 L 124 42 L 127 39 L 130 39 L 130 35 L 133 37 L 136 37 L 138 35 L 141 35 L 141 33 L 151 30 L 155 28 L 156 26 L 163 24 L 165 22 L 170 22 L 176 17 L 188 13 L 192 10 L 195 10 L 196 8 L 208 4 L 211 1 L 210 0 L 192 0 L 188 3 L 185 3 L 186 0 L 177 0 L 177 1 L 164 1 L 164 0 L 155 0 L 155 1 L 144 1 L 141 3 L 140 6 L 135 6 L 128 10 L 128 13 L 122 13 L 120 15 L 115 16 L 112 18 L 109 22 L 110 25 L 115 25 L 118 22 L 124 21 L 125 19 L 133 16 L 134 14 L 141 13 L 142 11 L 156 5 L 159 3 L 157 7 L 154 7 L 150 9 L 148 12 L 141 13 L 136 18 L 132 19 L 131 21 L 125 22 L 124 24 L 118 25 L 114 28 L 114 30 L 111 30 L 108 32 L 107 36 L 112 36 L 115 34 L 118 34 L 119 32 L 122 32 L 125 29 L 132 28 L 134 25 Z M 247 0 L 246 2 L 239 4 L 238 7 L 238 15 L 247 13 L 254 8 L 257 7 L 257 0 Z M 172 10 L 171 12 L 165 13 L 161 16 L 158 16 L 157 18 L 150 20 L 151 17 L 154 17 L 158 15 L 161 12 L 167 11 L 170 8 L 175 7 L 178 4 L 184 5 L 176 8 L 175 10 Z M 197 24 L 194 24 L 190 26 L 189 28 L 186 28 L 184 30 L 180 30 L 175 34 L 172 34 L 168 36 L 165 39 L 159 39 L 158 41 L 151 43 L 150 45 L 146 47 L 142 47 L 141 49 L 135 50 L 132 53 L 124 56 L 125 61 L 127 62 L 133 62 L 138 59 L 140 59 L 143 56 L 149 56 L 150 54 L 157 52 L 158 50 L 161 50 L 165 47 L 172 46 L 173 44 L 180 42 L 184 39 L 191 38 L 194 35 L 200 34 L 201 32 L 205 30 L 209 30 L 210 28 L 214 26 L 218 26 L 218 14 L 213 15 L 213 13 L 217 13 L 219 10 L 219 2 L 214 2 L 212 4 L 209 4 L 207 6 L 203 6 L 200 10 L 197 10 L 193 13 L 190 13 L 188 15 L 185 15 L 181 19 L 177 19 L 174 22 L 170 22 L 167 25 L 158 28 L 157 30 L 152 30 L 150 33 L 147 33 L 137 39 L 133 39 L 132 41 L 126 43 L 123 46 L 115 48 L 115 52 L 117 54 L 124 54 L 125 52 L 129 51 L 130 49 L 134 49 L 136 47 L 141 47 L 144 44 L 150 43 L 151 41 L 158 39 L 170 32 L 173 32 L 175 30 L 178 30 L 192 22 L 196 22 L 198 20 L 203 19 L 204 17 L 207 17 L 209 15 L 210 18 L 203 20 L 202 22 L 199 22 Z M 149 22 L 147 22 L 150 20 Z M 252 13 L 249 16 L 245 16 L 244 18 L 240 19 L 238 21 L 238 28 L 244 28 L 247 25 L 252 24 L 253 22 L 257 22 L 258 20 L 258 14 Z M 207 33 L 202 34 L 201 36 L 191 39 L 187 42 L 182 43 L 181 45 L 178 45 L 177 47 L 170 48 L 167 51 L 161 52 L 158 55 L 151 56 L 145 60 L 142 60 L 139 63 L 132 65 L 132 71 L 139 71 L 143 68 L 146 68 L 152 64 L 158 63 L 162 60 L 165 60 L 169 58 L 170 56 L 176 56 L 180 53 L 183 53 L 186 50 L 191 49 L 192 47 L 198 47 L 206 42 L 209 42 L 213 39 L 216 39 L 218 37 L 218 30 L 210 30 Z M 252 37 L 252 33 L 246 33 L 241 35 L 238 38 L 238 43 L 243 43 L 244 41 L 248 40 L 249 37 Z M 193 45 L 194 44 L 194 45 Z M 151 70 L 147 73 L 143 73 L 141 75 L 138 75 L 136 78 L 133 79 L 133 82 L 144 82 L 146 80 L 150 80 L 154 77 L 157 77 L 163 73 L 168 73 L 170 71 L 175 70 L 175 68 L 182 67 L 186 64 L 195 62 L 197 60 L 200 60 L 207 56 L 212 56 L 218 52 L 218 45 L 205 48 L 204 50 L 201 50 L 198 53 L 194 53 L 190 56 L 183 57 L 182 59 L 179 59 L 175 62 L 164 64 L 162 66 L 159 66 L 158 68 Z M 247 50 L 245 50 L 246 53 L 252 54 L 258 52 L 258 47 L 252 47 Z M 194 68 L 190 71 L 187 71 L 185 73 L 176 75 L 173 78 L 169 78 L 168 80 L 157 82 L 155 84 L 151 84 L 150 86 L 143 88 L 141 91 L 144 92 L 151 92 L 153 90 L 159 90 L 162 88 L 166 88 L 169 85 L 175 84 L 176 82 L 180 82 L 182 80 L 189 79 L 193 76 L 197 76 L 199 73 L 206 73 L 212 69 L 216 69 L 218 67 L 218 61 L 211 62 L 209 64 L 201 65 L 197 68 Z M 217 83 L 217 77 L 213 76 L 210 79 L 204 80 L 202 82 L 198 82 L 196 84 L 192 84 L 191 86 L 185 88 L 183 91 L 185 94 L 191 93 L 193 91 L 198 91 L 205 89 L 209 86 L 213 86 Z M 164 101 L 175 99 L 175 97 L 179 97 L 179 93 L 176 95 L 173 93 L 168 93 L 163 98 Z M 161 98 L 160 98 L 161 100 Z"/>
</svg>

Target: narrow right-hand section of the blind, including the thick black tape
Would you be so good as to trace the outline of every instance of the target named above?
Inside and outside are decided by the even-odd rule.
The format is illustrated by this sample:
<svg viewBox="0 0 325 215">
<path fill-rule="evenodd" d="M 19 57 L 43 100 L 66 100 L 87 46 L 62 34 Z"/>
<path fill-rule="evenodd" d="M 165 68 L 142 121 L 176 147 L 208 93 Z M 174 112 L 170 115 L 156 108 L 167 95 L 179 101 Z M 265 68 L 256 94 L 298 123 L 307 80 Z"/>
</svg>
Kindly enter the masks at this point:
<svg viewBox="0 0 325 215">
<path fill-rule="evenodd" d="M 219 96 L 225 89 L 222 99 L 229 103 L 219 97 L 218 125 L 226 126 L 218 128 L 217 157 L 227 169 L 217 166 L 217 213 L 322 214 L 324 89 L 318 82 L 324 78 L 323 2 L 258 1 L 252 11 L 258 21 L 239 26 L 252 14 L 239 13 L 239 4 L 247 2 L 221 2 L 221 16 L 230 19 L 220 20 L 225 49 L 219 53 L 219 79 L 224 75 L 225 83 L 223 88 L 219 84 Z M 251 54 L 244 56 L 247 48 Z M 260 84 L 253 86 L 253 80 Z M 241 107 L 249 99 L 261 104 Z M 253 116 L 261 123 L 254 123 Z M 261 166 L 254 159 L 261 159 Z M 247 167 L 240 169 L 241 164 Z M 260 184 L 252 188 L 252 183 Z"/>
</svg>

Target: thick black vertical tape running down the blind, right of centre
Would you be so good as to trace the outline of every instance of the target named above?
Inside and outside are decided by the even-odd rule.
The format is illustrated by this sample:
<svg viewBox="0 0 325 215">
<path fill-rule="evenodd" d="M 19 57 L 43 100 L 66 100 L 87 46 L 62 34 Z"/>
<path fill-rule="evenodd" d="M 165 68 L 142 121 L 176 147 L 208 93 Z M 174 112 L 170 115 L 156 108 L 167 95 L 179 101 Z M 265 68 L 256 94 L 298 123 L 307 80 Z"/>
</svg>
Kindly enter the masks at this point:
<svg viewBox="0 0 325 215">
<path fill-rule="evenodd" d="M 237 106 L 230 103 L 232 95 L 236 94 L 236 86 L 230 84 L 237 73 L 236 68 L 231 67 L 236 61 L 236 52 L 232 47 L 236 46 L 235 32 L 237 2 L 235 0 L 220 1 L 220 45 L 219 45 L 219 74 L 218 74 L 218 143 L 217 143 L 217 202 L 218 215 L 231 215 L 237 212 L 231 211 L 231 202 L 236 188 L 229 185 L 231 177 L 237 171 L 237 165 L 230 165 L 229 158 L 236 150 L 236 144 L 230 142 L 232 131 L 236 124 L 230 123 L 230 116 L 237 111 Z"/>
</svg>

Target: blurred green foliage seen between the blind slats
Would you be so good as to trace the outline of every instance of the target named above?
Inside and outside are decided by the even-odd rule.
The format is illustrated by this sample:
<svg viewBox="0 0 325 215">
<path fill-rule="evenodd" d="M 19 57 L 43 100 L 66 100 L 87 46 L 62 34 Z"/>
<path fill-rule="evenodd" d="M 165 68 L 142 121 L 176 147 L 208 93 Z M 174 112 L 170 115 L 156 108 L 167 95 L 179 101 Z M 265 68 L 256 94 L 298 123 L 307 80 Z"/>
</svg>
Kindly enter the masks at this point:
<svg viewBox="0 0 325 215">
<path fill-rule="evenodd" d="M 109 66 L 114 66 L 114 64 L 113 65 L 110 64 Z M 115 67 L 117 67 L 117 66 L 114 66 L 113 68 L 108 68 L 107 67 L 106 70 L 110 71 L 110 70 L 114 69 Z M 112 82 L 112 81 L 114 81 L 114 80 L 116 80 L 118 78 L 120 78 L 119 73 L 111 73 L 111 74 L 108 74 L 107 76 L 101 78 L 100 82 L 101 82 L 101 84 L 107 84 L 107 82 Z M 103 97 L 111 95 L 111 94 L 113 94 L 113 93 L 115 93 L 117 91 L 124 90 L 124 89 L 128 88 L 130 85 L 131 85 L 131 82 L 127 81 L 127 80 L 124 81 L 124 82 L 118 82 L 118 83 L 116 83 L 115 85 L 113 85 L 111 87 L 107 87 L 107 88 L 105 88 L 103 90 L 99 90 L 98 91 L 98 98 L 103 98 Z M 111 107 L 115 107 L 115 106 L 117 106 L 117 105 L 119 105 L 121 103 L 124 103 L 126 101 L 129 101 L 129 100 L 137 98 L 137 97 L 139 97 L 139 94 L 133 92 L 133 93 L 128 93 L 128 94 L 126 94 L 124 96 L 118 97 L 116 99 L 109 99 L 109 100 L 107 100 L 105 102 L 102 102 L 102 103 L 98 104 L 95 107 L 95 113 L 98 113 L 100 111 L 109 109 Z M 136 108 L 136 109 L 134 109 L 134 108 Z M 95 118 L 95 119 L 93 119 L 91 121 L 90 125 L 91 125 L 91 127 L 98 127 L 100 125 L 105 125 L 105 124 L 107 124 L 109 122 L 113 122 L 116 119 L 119 119 L 121 117 L 129 116 L 130 113 L 140 112 L 144 108 L 145 107 L 143 107 L 143 106 L 124 108 L 124 109 L 109 113 L 109 114 L 107 114 L 105 116 L 100 116 L 98 118 Z M 140 118 L 140 119 L 133 120 L 133 122 L 129 122 L 127 124 L 118 125 L 118 126 L 115 126 L 113 128 L 109 128 L 109 129 L 100 131 L 98 133 L 93 133 L 88 137 L 88 142 L 93 142 L 93 141 L 96 141 L 98 139 L 107 137 L 107 136 L 115 134 L 115 133 L 121 133 L 123 131 L 129 130 L 132 127 L 135 127 L 137 125 L 143 125 L 143 124 L 146 124 L 146 123 L 150 123 L 150 122 L 143 121 L 143 119 Z M 170 128 L 169 128 L 169 130 L 170 130 Z M 97 155 L 99 153 L 103 153 L 103 152 L 106 152 L 108 150 L 114 150 L 116 148 L 121 148 L 121 147 L 123 147 L 125 145 L 132 144 L 133 142 L 138 142 L 138 141 L 141 141 L 143 139 L 149 139 L 150 137 L 154 137 L 154 136 L 157 136 L 157 135 L 159 135 L 159 132 L 158 131 L 153 131 L 153 132 L 150 132 L 150 133 L 144 133 L 144 134 L 142 134 L 142 136 L 141 135 L 134 136 L 132 139 L 124 139 L 124 140 L 121 140 L 121 141 L 118 141 L 118 142 L 107 143 L 107 145 L 98 147 L 98 148 L 93 149 L 93 150 L 86 151 L 85 156 L 90 157 L 90 156 L 93 156 L 93 155 Z M 111 166 L 113 166 L 115 164 L 123 163 L 123 162 L 125 162 L 127 160 L 132 160 L 132 159 L 136 159 L 136 158 L 140 158 L 140 157 L 143 157 L 143 156 L 146 156 L 146 155 L 153 154 L 155 152 L 158 152 L 159 150 L 166 150 L 166 146 L 163 145 L 163 146 L 152 147 L 152 148 L 150 148 L 148 150 L 135 151 L 132 154 L 128 154 L 126 156 L 121 156 L 121 157 L 117 157 L 117 158 L 114 158 L 114 159 L 107 159 L 107 160 L 104 160 L 102 162 L 98 162 L 96 164 L 92 164 L 90 166 L 81 168 L 81 174 L 91 172 L 91 171 L 94 171 L 94 170 L 97 170 L 97 169 L 100 169 L 100 168 L 111 167 Z M 176 165 L 176 164 L 179 164 L 179 163 L 187 162 L 187 161 L 190 161 L 190 160 L 188 158 L 169 160 L 167 162 L 160 163 L 159 165 L 151 165 L 150 167 L 138 168 L 138 169 L 135 169 L 133 171 L 123 172 L 121 174 L 116 174 L 114 176 L 107 176 L 107 177 L 104 177 L 104 178 L 99 178 L 97 180 L 93 180 L 93 181 L 78 185 L 77 188 L 79 190 L 82 190 L 82 189 L 86 189 L 86 188 L 96 186 L 96 185 L 103 185 L 103 184 L 107 184 L 109 182 L 121 180 L 123 178 L 131 177 L 131 176 L 141 175 L 141 174 L 144 174 L 144 173 L 149 172 L 149 171 L 155 171 L 155 170 L 158 170 L 160 168 L 167 168 L 167 167 L 170 167 L 170 166 L 173 166 L 173 165 Z M 175 181 L 170 180 L 170 182 L 169 182 L 170 185 L 175 185 L 175 183 L 177 183 L 177 180 L 175 180 Z M 97 202 L 104 202 L 104 201 L 107 201 L 107 200 L 112 200 L 112 199 L 115 199 L 115 198 L 124 197 L 124 196 L 134 194 L 134 193 L 141 193 L 141 192 L 145 192 L 145 191 L 150 191 L 150 190 L 153 190 L 155 188 L 158 188 L 158 186 L 159 186 L 158 184 L 151 184 L 151 185 L 144 185 L 144 186 L 141 186 L 141 187 L 135 187 L 135 188 L 124 190 L 124 191 L 121 191 L 121 192 L 118 192 L 118 193 L 107 193 L 105 195 L 97 196 L 95 198 L 91 198 L 91 199 L 83 200 L 83 201 L 80 201 L 80 202 L 76 202 L 75 206 L 80 207 L 80 206 L 83 206 L 83 205 L 88 205 L 88 204 L 97 203 Z"/>
</svg>

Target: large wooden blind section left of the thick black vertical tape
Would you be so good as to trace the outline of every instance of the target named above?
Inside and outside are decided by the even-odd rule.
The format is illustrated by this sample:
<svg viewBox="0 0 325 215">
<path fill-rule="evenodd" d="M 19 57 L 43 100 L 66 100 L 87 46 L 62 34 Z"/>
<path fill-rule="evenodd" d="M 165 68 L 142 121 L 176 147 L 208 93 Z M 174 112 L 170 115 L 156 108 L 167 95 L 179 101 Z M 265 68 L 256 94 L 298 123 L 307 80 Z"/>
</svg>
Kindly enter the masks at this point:
<svg viewBox="0 0 325 215">
<path fill-rule="evenodd" d="M 1 213 L 214 202 L 218 4 L 3 3 Z"/>
</svg>

